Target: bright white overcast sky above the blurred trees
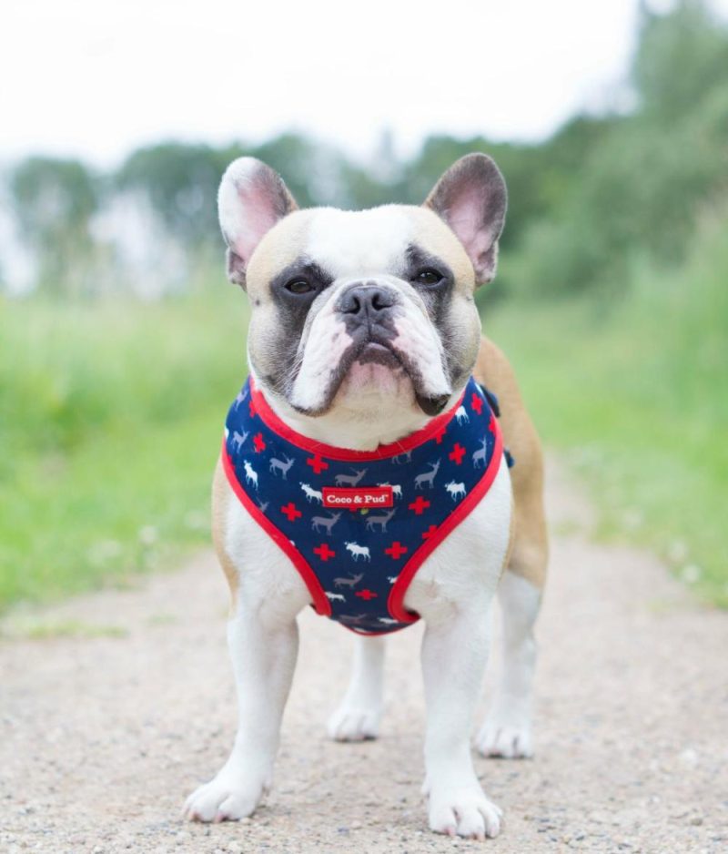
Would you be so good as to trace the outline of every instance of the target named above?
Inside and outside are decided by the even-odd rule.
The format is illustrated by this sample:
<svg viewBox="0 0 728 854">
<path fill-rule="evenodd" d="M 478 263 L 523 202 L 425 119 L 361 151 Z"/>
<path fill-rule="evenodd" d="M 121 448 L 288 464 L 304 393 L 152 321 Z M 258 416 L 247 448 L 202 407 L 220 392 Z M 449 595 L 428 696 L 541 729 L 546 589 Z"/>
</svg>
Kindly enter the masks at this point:
<svg viewBox="0 0 728 854">
<path fill-rule="evenodd" d="M 637 0 L 5 0 L 0 160 L 108 166 L 291 128 L 356 155 L 384 127 L 404 152 L 430 132 L 544 137 L 607 103 L 636 18 Z"/>
</svg>

